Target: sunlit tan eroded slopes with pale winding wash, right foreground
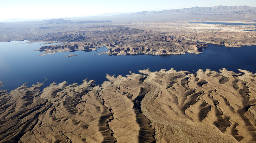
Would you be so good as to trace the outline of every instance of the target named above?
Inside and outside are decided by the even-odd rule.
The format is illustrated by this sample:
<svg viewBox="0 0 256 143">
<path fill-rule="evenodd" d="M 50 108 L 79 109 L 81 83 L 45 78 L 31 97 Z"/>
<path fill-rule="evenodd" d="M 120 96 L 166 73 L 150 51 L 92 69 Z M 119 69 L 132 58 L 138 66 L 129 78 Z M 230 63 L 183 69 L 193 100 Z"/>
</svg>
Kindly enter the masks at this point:
<svg viewBox="0 0 256 143">
<path fill-rule="evenodd" d="M 151 87 L 142 111 L 154 121 L 158 141 L 256 140 L 256 75 L 220 71 L 140 71 L 149 75 L 145 82 Z"/>
</svg>

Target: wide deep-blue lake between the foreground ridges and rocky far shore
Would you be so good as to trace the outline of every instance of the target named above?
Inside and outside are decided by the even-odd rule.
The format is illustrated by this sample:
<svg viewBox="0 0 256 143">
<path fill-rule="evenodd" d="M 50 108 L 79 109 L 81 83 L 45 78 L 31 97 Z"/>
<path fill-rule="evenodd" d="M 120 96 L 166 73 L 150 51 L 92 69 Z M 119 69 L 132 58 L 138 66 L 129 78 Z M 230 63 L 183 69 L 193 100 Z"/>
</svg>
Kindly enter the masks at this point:
<svg viewBox="0 0 256 143">
<path fill-rule="evenodd" d="M 25 41 L 26 42 L 26 41 Z M 244 69 L 256 73 L 256 46 L 244 46 L 242 48 L 228 48 L 223 45 L 208 44 L 202 54 L 187 53 L 184 55 L 170 56 L 109 56 L 93 55 L 107 51 L 104 47 L 97 51 L 62 52 L 50 55 L 39 51 L 40 43 L 24 43 L 12 41 L 0 43 L 0 81 L 6 81 L 0 89 L 13 90 L 24 83 L 28 86 L 36 82 L 44 82 L 44 87 L 53 82 L 68 81 L 82 83 L 83 79 L 95 79 L 96 84 L 107 81 L 106 73 L 110 75 L 127 75 L 129 71 L 139 73 L 138 70 L 149 68 L 151 71 L 174 68 L 177 71 L 190 71 L 195 73 L 198 69 L 227 68 L 229 71 L 239 73 L 237 69 Z M 63 54 L 76 54 L 69 57 Z"/>
</svg>

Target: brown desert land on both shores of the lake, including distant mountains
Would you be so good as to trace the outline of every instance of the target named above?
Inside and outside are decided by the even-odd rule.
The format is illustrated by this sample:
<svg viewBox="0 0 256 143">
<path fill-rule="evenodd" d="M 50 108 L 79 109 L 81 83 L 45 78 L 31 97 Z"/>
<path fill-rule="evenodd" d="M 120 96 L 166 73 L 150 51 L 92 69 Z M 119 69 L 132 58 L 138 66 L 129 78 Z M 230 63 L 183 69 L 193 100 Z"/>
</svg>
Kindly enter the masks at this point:
<svg viewBox="0 0 256 143">
<path fill-rule="evenodd" d="M 0 42 L 61 43 L 42 45 L 39 56 L 104 46 L 109 55 L 200 54 L 207 43 L 256 45 L 255 18 L 254 7 L 217 6 L 1 22 Z M 256 142 L 255 73 L 171 68 L 107 74 L 102 85 L 84 79 L 0 90 L 0 142 Z"/>
</svg>

